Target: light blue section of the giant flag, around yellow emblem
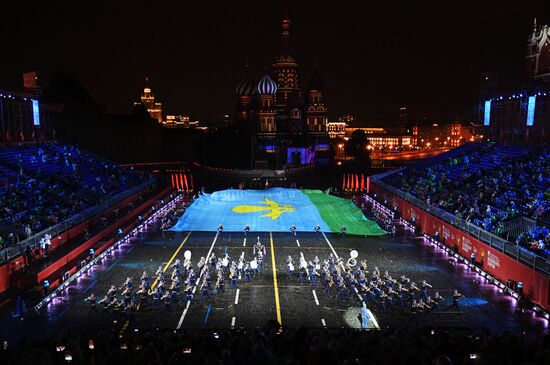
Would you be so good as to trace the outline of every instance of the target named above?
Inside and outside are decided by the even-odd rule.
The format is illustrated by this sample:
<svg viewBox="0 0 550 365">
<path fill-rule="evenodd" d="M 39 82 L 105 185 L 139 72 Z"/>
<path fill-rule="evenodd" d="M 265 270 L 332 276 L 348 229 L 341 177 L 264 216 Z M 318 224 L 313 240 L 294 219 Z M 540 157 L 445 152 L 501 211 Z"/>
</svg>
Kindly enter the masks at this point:
<svg viewBox="0 0 550 365">
<path fill-rule="evenodd" d="M 273 215 L 273 209 L 266 204 L 266 199 L 274 202 L 276 206 L 284 204 L 292 210 L 281 209 L 280 215 L 274 214 L 275 219 L 269 216 L 262 217 L 267 214 Z M 262 210 L 239 213 L 233 210 L 238 206 L 258 207 L 257 209 Z M 224 231 L 229 232 L 243 232 L 247 224 L 251 231 L 257 232 L 289 232 L 292 225 L 295 225 L 298 231 L 312 232 L 317 224 L 321 226 L 321 230 L 330 231 L 307 195 L 298 189 L 286 188 L 222 190 L 202 194 L 171 230 L 216 231 L 218 224 L 222 224 Z"/>
</svg>

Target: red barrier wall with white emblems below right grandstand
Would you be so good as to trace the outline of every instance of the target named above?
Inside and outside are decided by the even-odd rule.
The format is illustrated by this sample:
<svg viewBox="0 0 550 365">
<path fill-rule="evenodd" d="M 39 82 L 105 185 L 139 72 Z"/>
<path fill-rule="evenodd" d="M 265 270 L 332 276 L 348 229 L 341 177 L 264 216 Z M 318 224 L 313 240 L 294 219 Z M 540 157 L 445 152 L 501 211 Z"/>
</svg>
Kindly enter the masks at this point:
<svg viewBox="0 0 550 365">
<path fill-rule="evenodd" d="M 370 184 L 370 192 L 377 194 L 378 201 L 387 200 L 389 207 L 396 207 L 404 219 L 409 220 L 414 217 L 416 224 L 423 232 L 429 235 L 433 235 L 436 231 L 439 232 L 439 237 L 442 238 L 446 246 L 458 246 L 460 255 L 470 258 L 470 254 L 473 252 L 476 262 L 480 262 L 485 271 L 500 281 L 506 282 L 509 279 L 516 282 L 521 281 L 524 294 L 541 307 L 550 310 L 550 278 L 546 275 L 497 251 L 412 203 L 385 191 L 376 183 Z"/>
</svg>

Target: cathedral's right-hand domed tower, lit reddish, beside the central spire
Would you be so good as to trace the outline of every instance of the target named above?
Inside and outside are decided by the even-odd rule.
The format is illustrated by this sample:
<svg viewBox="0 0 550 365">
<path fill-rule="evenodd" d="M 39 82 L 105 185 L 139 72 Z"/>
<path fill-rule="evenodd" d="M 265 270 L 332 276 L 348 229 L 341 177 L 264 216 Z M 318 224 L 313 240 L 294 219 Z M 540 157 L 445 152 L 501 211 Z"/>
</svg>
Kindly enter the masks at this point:
<svg viewBox="0 0 550 365">
<path fill-rule="evenodd" d="M 323 78 L 319 69 L 315 67 L 315 71 L 307 83 L 308 99 L 306 104 L 306 127 L 309 133 L 315 135 L 327 134 L 328 114 L 323 100 L 323 87 Z"/>
</svg>

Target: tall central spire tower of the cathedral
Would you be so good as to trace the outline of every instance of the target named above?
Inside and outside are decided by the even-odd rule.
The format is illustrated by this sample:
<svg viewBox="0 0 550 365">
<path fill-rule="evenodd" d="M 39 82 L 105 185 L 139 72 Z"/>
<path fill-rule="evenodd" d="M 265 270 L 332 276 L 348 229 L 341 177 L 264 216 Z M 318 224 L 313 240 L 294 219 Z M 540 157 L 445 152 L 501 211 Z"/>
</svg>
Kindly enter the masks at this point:
<svg viewBox="0 0 550 365">
<path fill-rule="evenodd" d="M 272 65 L 273 76 L 277 83 L 277 110 L 287 112 L 289 95 L 298 92 L 298 65 L 289 53 L 288 38 L 290 34 L 290 19 L 285 14 L 281 21 L 282 45 L 281 53 Z"/>
</svg>

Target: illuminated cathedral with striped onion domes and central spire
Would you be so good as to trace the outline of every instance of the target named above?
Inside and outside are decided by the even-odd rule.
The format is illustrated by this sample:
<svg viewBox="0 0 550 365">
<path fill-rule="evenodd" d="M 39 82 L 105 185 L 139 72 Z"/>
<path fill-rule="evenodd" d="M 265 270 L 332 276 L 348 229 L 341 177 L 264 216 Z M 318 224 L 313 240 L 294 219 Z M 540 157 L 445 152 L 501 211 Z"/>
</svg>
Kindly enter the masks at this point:
<svg viewBox="0 0 550 365">
<path fill-rule="evenodd" d="M 256 82 L 248 69 L 235 92 L 235 125 L 252 136 L 251 167 L 280 168 L 328 163 L 328 112 L 316 67 L 300 88 L 298 64 L 289 51 L 290 19 L 281 21 L 281 51 Z"/>
</svg>

